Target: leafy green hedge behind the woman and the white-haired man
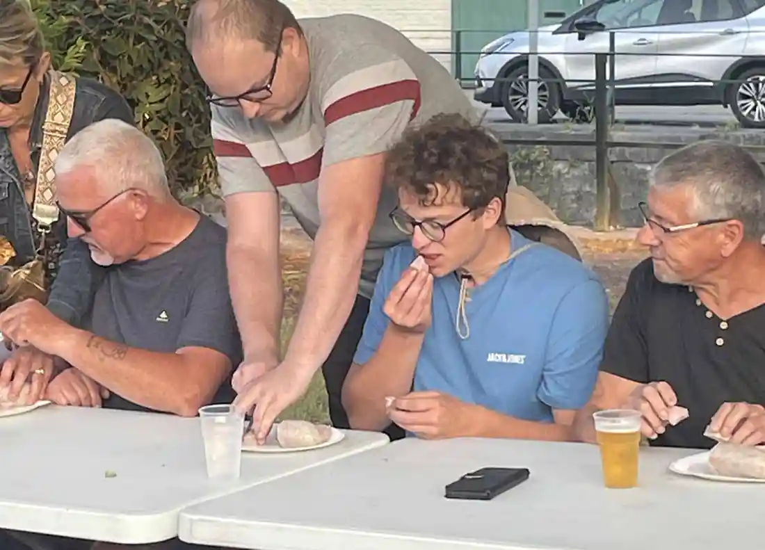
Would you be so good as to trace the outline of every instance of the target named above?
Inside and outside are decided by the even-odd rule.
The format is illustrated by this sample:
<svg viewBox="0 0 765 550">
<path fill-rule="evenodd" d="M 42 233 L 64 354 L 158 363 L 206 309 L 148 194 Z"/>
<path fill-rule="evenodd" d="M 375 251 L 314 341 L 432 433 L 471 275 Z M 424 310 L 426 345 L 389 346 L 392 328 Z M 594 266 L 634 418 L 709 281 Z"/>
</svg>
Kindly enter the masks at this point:
<svg viewBox="0 0 765 550">
<path fill-rule="evenodd" d="M 191 0 L 31 0 L 54 66 L 119 90 L 179 198 L 216 193 L 205 86 L 184 44 Z"/>
</svg>

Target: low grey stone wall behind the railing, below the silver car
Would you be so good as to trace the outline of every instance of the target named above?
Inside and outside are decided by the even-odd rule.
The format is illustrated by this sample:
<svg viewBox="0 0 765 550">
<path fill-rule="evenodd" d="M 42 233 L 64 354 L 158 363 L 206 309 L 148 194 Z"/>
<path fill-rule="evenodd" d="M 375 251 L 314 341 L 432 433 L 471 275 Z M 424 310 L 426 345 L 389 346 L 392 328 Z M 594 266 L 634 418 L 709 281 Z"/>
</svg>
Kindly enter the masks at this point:
<svg viewBox="0 0 765 550">
<path fill-rule="evenodd" d="M 495 125 L 510 151 L 520 185 L 529 187 L 549 204 L 565 223 L 591 226 L 595 216 L 595 148 L 591 125 Z M 751 148 L 765 163 L 765 132 L 741 129 L 702 129 L 657 125 L 615 126 L 610 148 L 611 174 L 621 190 L 620 225 L 643 224 L 637 203 L 646 200 L 649 174 L 664 155 L 677 147 L 702 139 L 725 139 Z M 539 142 L 581 141 L 582 145 L 518 145 L 513 140 Z M 653 144 L 653 147 L 626 144 Z"/>
</svg>

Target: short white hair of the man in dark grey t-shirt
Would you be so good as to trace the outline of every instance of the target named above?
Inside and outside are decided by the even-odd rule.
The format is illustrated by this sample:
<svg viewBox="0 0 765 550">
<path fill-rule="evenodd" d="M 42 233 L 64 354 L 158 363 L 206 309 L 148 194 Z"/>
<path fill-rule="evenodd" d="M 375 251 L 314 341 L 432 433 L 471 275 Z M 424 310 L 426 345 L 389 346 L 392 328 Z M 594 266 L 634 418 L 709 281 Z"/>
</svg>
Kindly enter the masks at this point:
<svg viewBox="0 0 765 550">
<path fill-rule="evenodd" d="M 140 129 L 119 119 L 94 122 L 77 132 L 54 161 L 57 176 L 77 168 L 95 171 L 99 185 L 111 193 L 131 187 L 151 197 L 170 197 L 162 154 Z"/>
</svg>

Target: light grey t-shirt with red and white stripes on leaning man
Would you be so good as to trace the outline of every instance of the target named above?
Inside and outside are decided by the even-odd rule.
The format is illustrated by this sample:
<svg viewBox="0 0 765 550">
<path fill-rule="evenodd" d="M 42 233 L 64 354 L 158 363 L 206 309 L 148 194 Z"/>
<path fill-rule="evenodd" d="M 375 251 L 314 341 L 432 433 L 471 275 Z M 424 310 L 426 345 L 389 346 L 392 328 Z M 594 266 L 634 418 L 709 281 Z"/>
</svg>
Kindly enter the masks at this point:
<svg viewBox="0 0 765 550">
<path fill-rule="evenodd" d="M 278 193 L 313 239 L 324 168 L 388 151 L 406 129 L 439 113 L 478 116 L 441 63 L 382 21 L 340 14 L 300 25 L 311 87 L 295 116 L 269 125 L 239 108 L 212 106 L 211 132 L 223 195 Z M 382 255 L 409 239 L 389 219 L 397 203 L 396 191 L 383 187 L 361 271 L 359 291 L 367 298 Z"/>
</svg>

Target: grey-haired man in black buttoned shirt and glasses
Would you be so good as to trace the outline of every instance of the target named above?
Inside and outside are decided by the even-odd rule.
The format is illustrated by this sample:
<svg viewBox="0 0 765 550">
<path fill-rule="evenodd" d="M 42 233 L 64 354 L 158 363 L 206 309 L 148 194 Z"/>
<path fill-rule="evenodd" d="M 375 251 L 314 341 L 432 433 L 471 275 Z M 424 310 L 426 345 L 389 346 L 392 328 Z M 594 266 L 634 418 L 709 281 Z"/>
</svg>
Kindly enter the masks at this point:
<svg viewBox="0 0 765 550">
<path fill-rule="evenodd" d="M 614 314 L 578 434 L 591 413 L 636 408 L 650 444 L 708 448 L 710 425 L 765 443 L 765 172 L 737 145 L 697 142 L 654 171 L 634 268 Z M 669 423 L 669 408 L 689 417 Z"/>
</svg>

